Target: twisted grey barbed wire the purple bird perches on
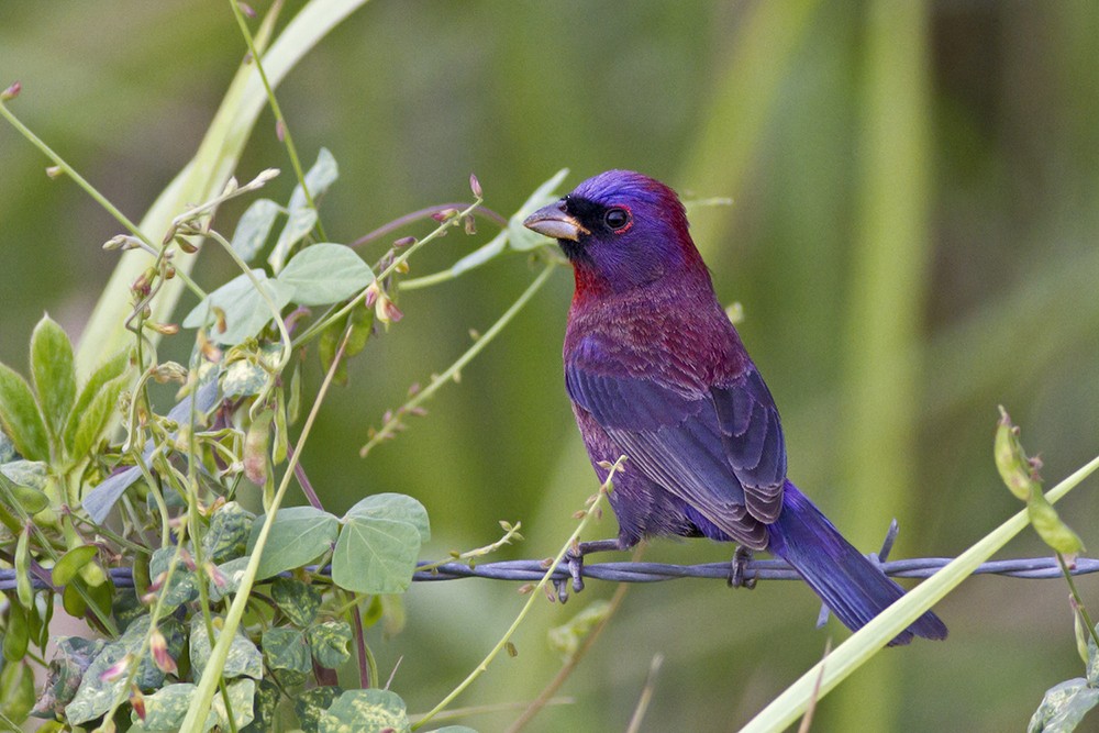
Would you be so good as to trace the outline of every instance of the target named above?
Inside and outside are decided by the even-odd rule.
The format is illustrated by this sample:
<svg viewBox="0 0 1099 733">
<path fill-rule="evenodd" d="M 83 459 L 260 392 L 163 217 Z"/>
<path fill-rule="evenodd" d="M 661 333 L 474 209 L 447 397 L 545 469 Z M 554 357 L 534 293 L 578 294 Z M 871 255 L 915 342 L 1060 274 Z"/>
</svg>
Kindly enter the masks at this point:
<svg viewBox="0 0 1099 733">
<path fill-rule="evenodd" d="M 876 555 L 869 555 L 877 562 Z M 952 557 L 920 557 L 902 560 L 878 562 L 878 567 L 893 578 L 928 578 L 942 569 Z M 541 580 L 546 571 L 546 562 L 541 559 L 500 560 L 470 565 L 468 563 L 431 563 L 421 562 L 412 575 L 412 580 L 434 582 L 440 580 L 458 580 L 462 578 L 485 578 L 488 580 L 511 580 L 529 582 Z M 700 565 L 670 565 L 667 563 L 592 563 L 585 564 L 584 578 L 607 580 L 611 582 L 662 582 L 680 578 L 704 578 L 728 580 L 731 563 L 703 563 Z M 329 567 L 311 566 L 312 573 L 329 573 Z M 1099 573 L 1099 559 L 1077 557 L 1069 566 L 1073 575 Z M 127 567 L 115 567 L 108 571 L 115 587 L 133 588 L 133 570 Z M 977 567 L 973 575 L 1000 575 L 1010 578 L 1031 580 L 1063 577 L 1063 571 L 1055 557 L 1025 557 L 1002 560 L 991 560 Z M 562 563 L 552 576 L 554 581 L 565 581 L 571 577 L 567 563 Z M 745 580 L 798 580 L 801 576 L 780 559 L 752 559 L 745 565 Z M 32 586 L 43 590 L 49 586 L 36 576 L 31 577 Z M 0 570 L 0 591 L 15 588 L 15 570 Z"/>
</svg>

